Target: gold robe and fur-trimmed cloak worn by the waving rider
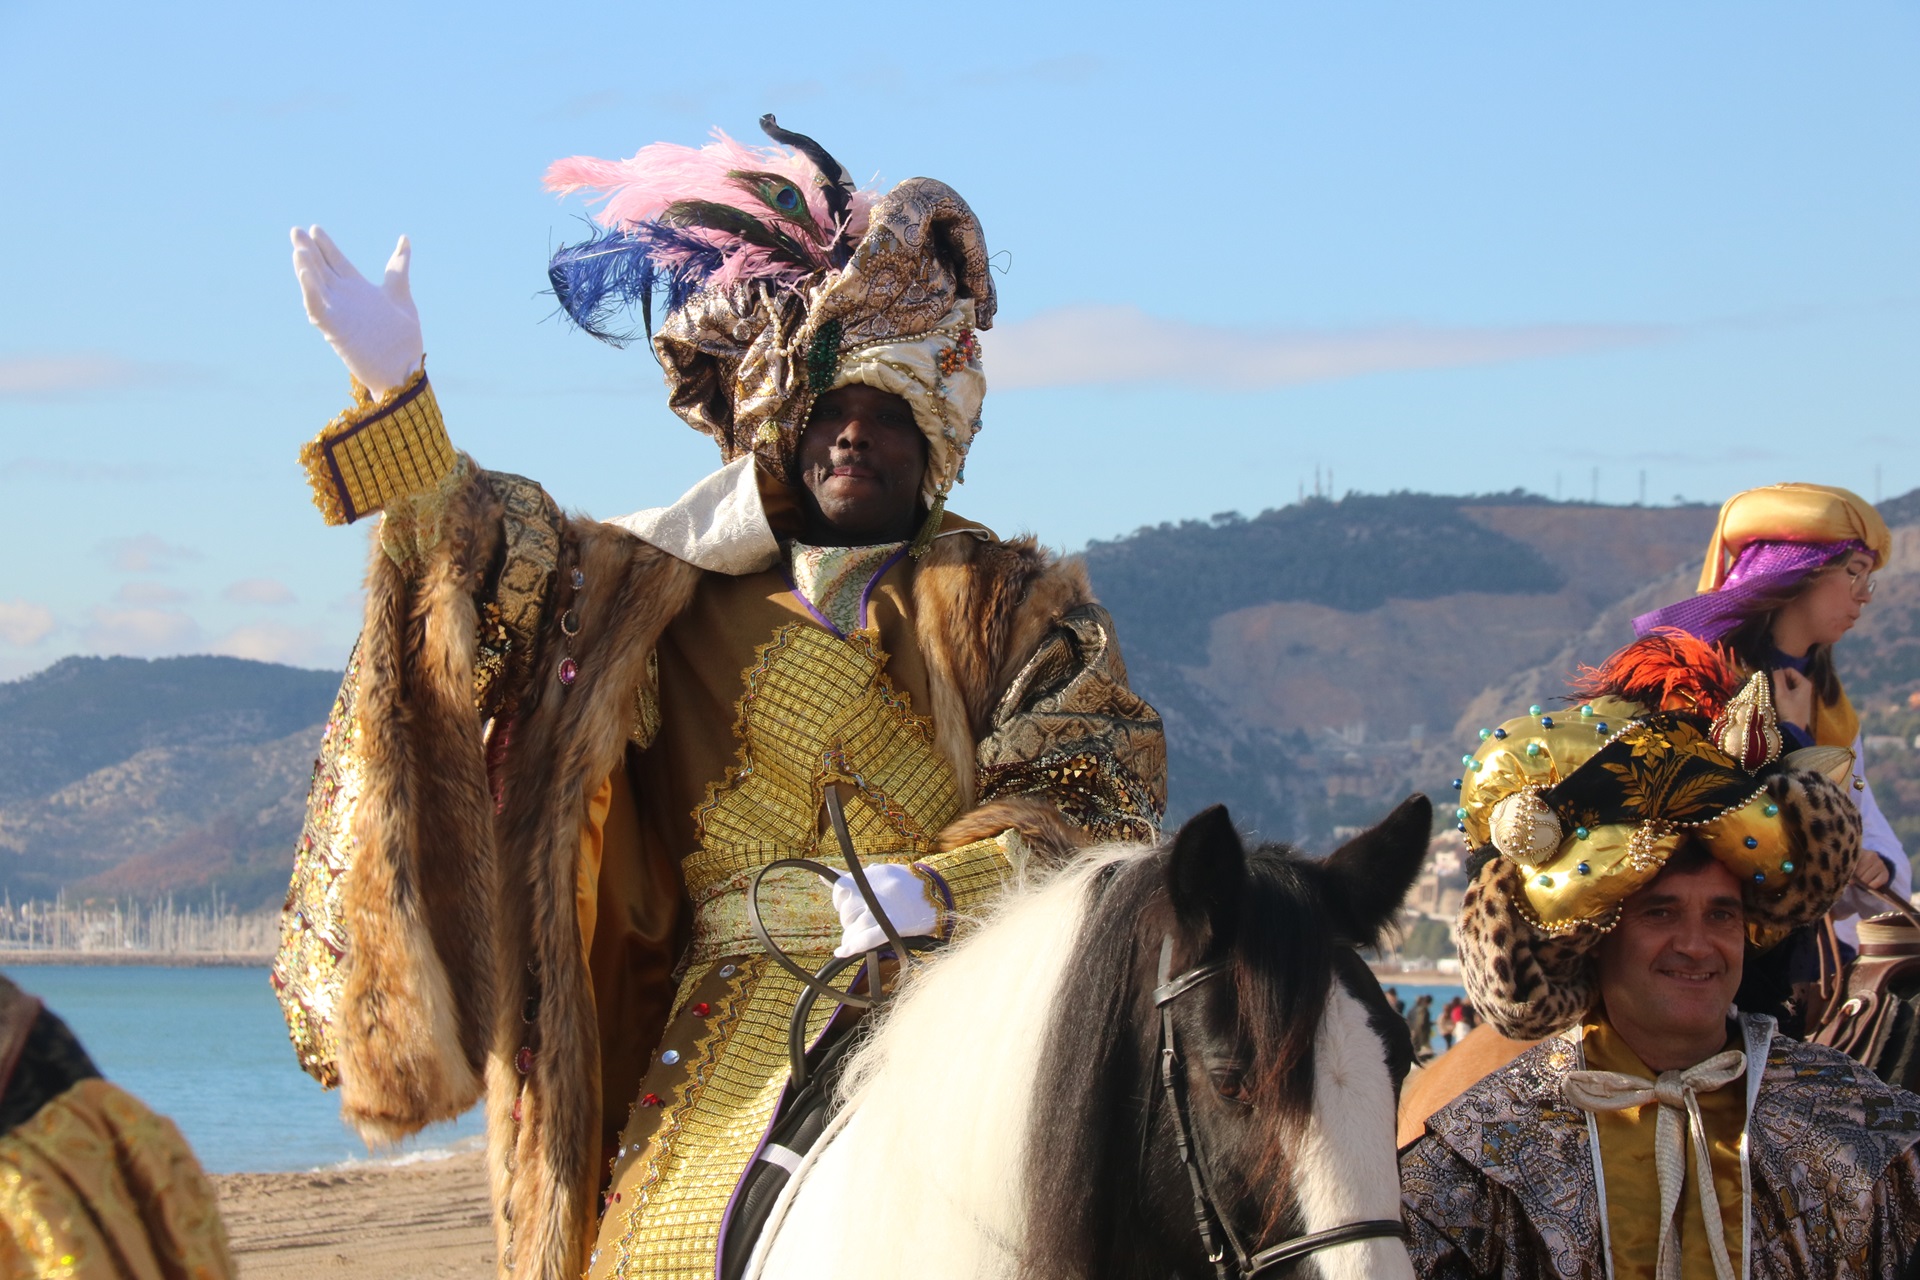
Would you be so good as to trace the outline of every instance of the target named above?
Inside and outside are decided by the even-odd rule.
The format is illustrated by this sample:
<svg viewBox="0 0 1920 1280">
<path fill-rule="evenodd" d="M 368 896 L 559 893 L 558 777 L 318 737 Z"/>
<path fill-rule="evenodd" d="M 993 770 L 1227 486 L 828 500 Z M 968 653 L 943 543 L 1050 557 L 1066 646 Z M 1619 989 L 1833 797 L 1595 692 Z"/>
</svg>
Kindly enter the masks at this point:
<svg viewBox="0 0 1920 1280">
<path fill-rule="evenodd" d="M 862 854 L 968 915 L 1027 852 L 1154 833 L 1160 722 L 1079 564 L 1031 541 L 947 516 L 843 639 L 780 572 L 461 474 L 374 555 L 276 965 L 296 1048 L 372 1136 L 486 1080 L 503 1274 L 580 1274 L 603 1186 L 601 1270 L 712 1274 L 795 994 L 743 936 L 751 871 L 820 852 L 841 785 Z M 831 952 L 824 885 L 766 902 L 789 952 Z"/>
</svg>

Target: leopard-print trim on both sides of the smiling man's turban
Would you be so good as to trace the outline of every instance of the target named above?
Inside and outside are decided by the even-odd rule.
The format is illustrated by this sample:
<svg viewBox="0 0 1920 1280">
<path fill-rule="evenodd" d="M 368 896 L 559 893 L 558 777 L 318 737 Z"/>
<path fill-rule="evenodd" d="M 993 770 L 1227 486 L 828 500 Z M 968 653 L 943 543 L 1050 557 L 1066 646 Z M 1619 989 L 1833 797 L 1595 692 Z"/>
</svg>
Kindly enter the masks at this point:
<svg viewBox="0 0 1920 1280">
<path fill-rule="evenodd" d="M 1745 887 L 1749 936 L 1761 946 L 1820 919 L 1847 887 L 1860 850 L 1860 810 L 1824 773 L 1788 770 L 1766 783 L 1766 794 L 1788 818 L 1795 871 L 1778 890 Z M 1459 965 L 1467 998 L 1496 1031 L 1542 1040 L 1578 1023 L 1594 1004 L 1590 952 L 1613 925 L 1549 936 L 1526 921 L 1523 900 L 1519 864 L 1490 858 L 1461 900 Z"/>
</svg>

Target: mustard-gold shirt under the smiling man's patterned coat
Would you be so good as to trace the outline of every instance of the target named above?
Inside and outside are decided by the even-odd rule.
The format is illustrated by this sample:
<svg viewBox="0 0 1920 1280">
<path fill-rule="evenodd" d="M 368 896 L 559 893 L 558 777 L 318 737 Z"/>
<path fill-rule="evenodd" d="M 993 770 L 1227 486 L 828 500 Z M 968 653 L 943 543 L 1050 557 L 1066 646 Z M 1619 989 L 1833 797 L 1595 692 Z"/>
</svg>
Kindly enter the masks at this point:
<svg viewBox="0 0 1920 1280">
<path fill-rule="evenodd" d="M 1597 1071 L 1619 1071 L 1653 1079 L 1605 1021 L 1586 1027 L 1580 1042 L 1586 1065 Z M 1726 1048 L 1741 1048 L 1740 1034 Z M 1740 1186 L 1740 1134 L 1747 1125 L 1747 1082 L 1736 1080 L 1724 1088 L 1699 1094 L 1699 1113 L 1707 1121 L 1707 1146 L 1713 1153 L 1713 1190 L 1720 1199 L 1720 1228 L 1726 1232 L 1726 1251 L 1740 1267 L 1741 1224 L 1747 1201 Z M 1599 1163 L 1607 1190 L 1607 1236 L 1613 1245 L 1615 1280 L 1653 1280 L 1653 1265 L 1661 1249 L 1661 1188 L 1653 1167 L 1653 1121 L 1659 1105 L 1597 1111 Z M 1713 1255 L 1701 1228 L 1699 1192 L 1693 1186 L 1692 1157 L 1686 1163 L 1688 1182 L 1680 1190 L 1680 1265 L 1682 1274 L 1711 1276 Z"/>
</svg>

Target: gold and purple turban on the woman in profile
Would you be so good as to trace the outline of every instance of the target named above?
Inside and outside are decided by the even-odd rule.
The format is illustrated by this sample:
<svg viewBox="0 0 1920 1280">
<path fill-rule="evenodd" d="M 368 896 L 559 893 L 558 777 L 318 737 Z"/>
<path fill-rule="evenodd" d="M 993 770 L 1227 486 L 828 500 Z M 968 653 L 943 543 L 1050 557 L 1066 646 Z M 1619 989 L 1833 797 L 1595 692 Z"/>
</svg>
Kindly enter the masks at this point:
<svg viewBox="0 0 1920 1280">
<path fill-rule="evenodd" d="M 1893 533 L 1866 499 L 1824 484 L 1774 484 L 1726 499 L 1699 595 L 1634 618 L 1634 631 L 1678 628 L 1716 641 L 1745 622 L 1753 604 L 1778 597 L 1826 564 L 1864 551 L 1874 568 L 1887 562 Z"/>
</svg>

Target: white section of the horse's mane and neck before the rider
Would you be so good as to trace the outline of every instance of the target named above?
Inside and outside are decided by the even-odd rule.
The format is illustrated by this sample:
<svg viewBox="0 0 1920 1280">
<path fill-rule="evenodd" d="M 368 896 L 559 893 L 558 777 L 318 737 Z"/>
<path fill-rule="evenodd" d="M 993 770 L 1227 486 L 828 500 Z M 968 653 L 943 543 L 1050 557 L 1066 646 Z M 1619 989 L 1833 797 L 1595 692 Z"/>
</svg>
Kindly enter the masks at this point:
<svg viewBox="0 0 1920 1280">
<path fill-rule="evenodd" d="M 841 1080 L 860 1121 L 841 1142 L 858 1140 L 876 1171 L 860 1215 L 889 1230 L 843 1238 L 843 1274 L 1016 1272 L 1041 1046 L 1096 885 L 1140 858 L 1114 844 L 1014 885 L 879 1015 Z M 879 1255 L 900 1240 L 910 1257 Z"/>
</svg>

